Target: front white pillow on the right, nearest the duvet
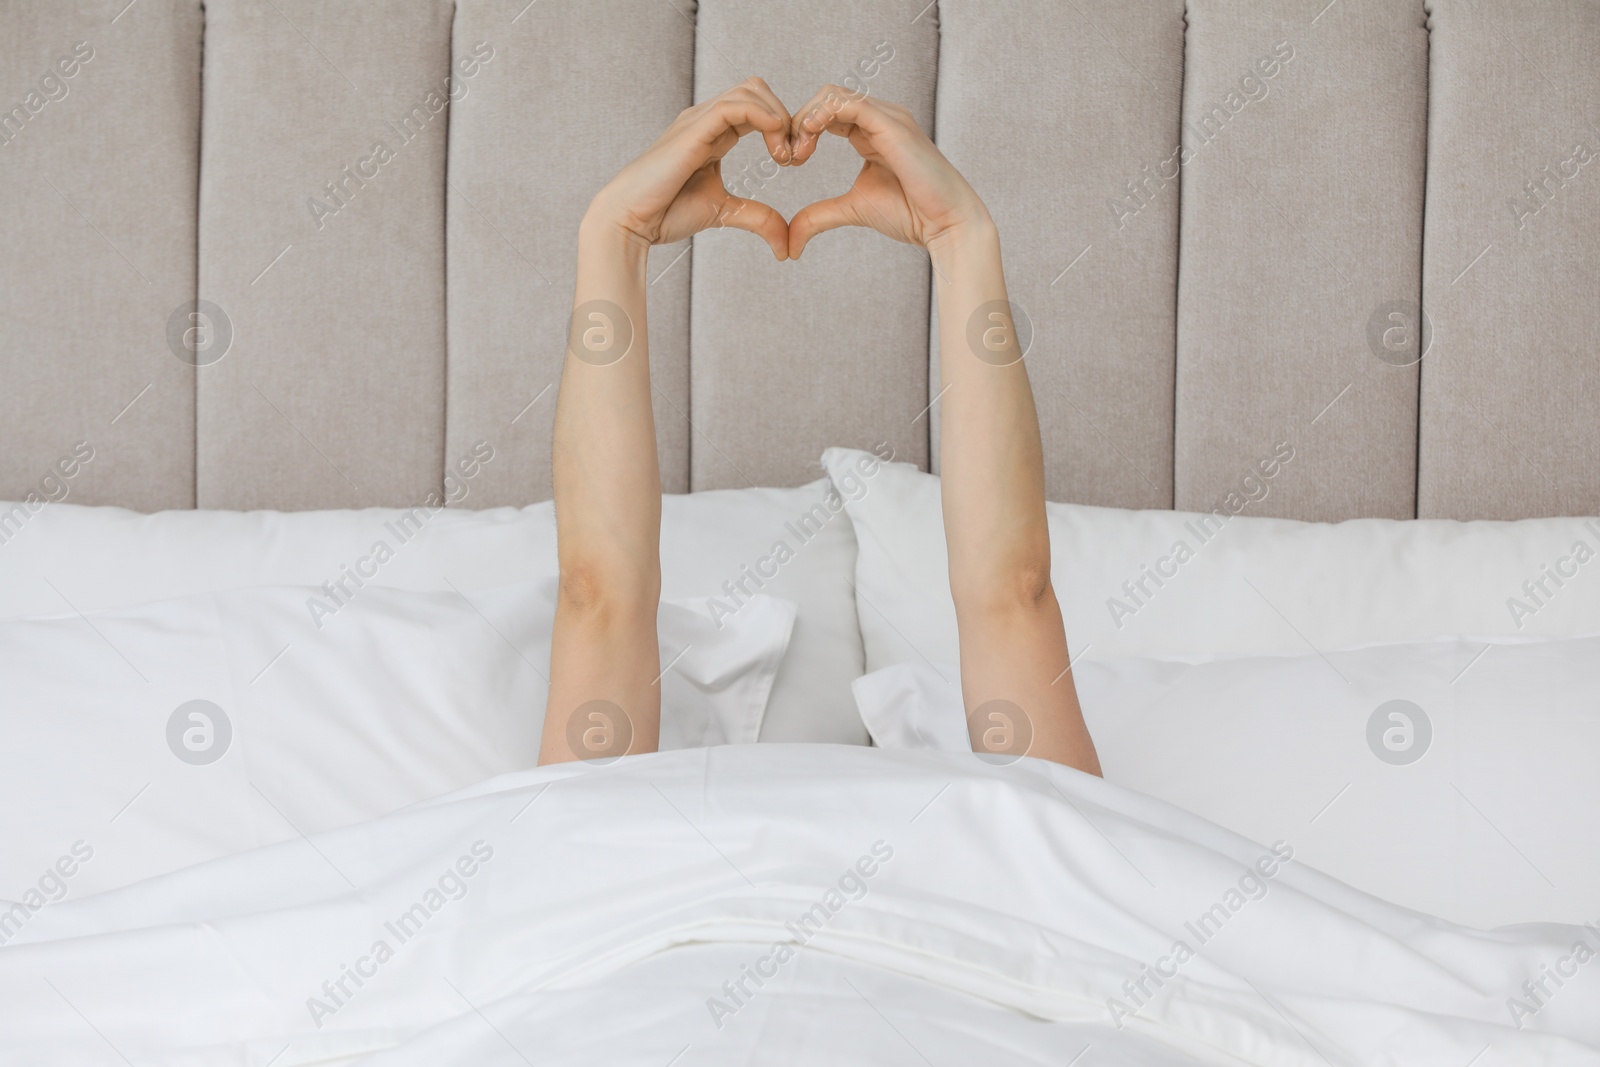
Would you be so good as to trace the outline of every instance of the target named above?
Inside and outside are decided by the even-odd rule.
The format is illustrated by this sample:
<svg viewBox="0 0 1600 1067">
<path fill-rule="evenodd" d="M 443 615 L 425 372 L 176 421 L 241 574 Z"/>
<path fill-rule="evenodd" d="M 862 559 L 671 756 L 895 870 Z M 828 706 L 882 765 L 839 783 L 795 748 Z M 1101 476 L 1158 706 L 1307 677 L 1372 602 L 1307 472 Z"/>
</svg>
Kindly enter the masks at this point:
<svg viewBox="0 0 1600 1067">
<path fill-rule="evenodd" d="M 1074 677 L 1120 785 L 1469 926 L 1600 918 L 1600 638 L 1130 657 Z M 955 664 L 899 664 L 856 694 L 878 744 L 970 750 Z"/>
</svg>

